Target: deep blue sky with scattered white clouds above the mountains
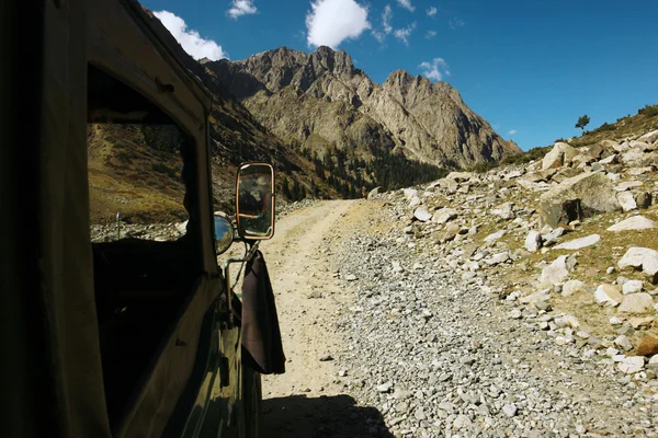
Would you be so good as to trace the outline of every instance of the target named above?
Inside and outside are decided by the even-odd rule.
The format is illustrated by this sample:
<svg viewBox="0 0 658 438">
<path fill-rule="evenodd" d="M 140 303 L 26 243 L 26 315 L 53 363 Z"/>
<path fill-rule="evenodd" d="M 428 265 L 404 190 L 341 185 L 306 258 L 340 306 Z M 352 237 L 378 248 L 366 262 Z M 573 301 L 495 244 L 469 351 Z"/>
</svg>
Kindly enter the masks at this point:
<svg viewBox="0 0 658 438">
<path fill-rule="evenodd" d="M 595 128 L 658 103 L 656 0 L 143 3 L 197 58 L 324 44 L 378 83 L 399 68 L 446 81 L 524 150 L 577 135 L 582 114 Z"/>
</svg>

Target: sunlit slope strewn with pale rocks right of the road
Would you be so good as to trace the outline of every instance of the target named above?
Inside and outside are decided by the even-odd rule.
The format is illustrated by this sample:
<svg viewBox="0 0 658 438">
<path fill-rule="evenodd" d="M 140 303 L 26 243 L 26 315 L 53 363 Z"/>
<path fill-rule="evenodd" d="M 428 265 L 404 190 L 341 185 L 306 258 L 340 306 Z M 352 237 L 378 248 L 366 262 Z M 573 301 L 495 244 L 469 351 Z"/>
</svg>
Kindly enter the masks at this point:
<svg viewBox="0 0 658 438">
<path fill-rule="evenodd" d="M 400 243 L 498 295 L 570 357 L 658 387 L 658 130 L 486 173 L 453 172 L 384 199 Z"/>
</svg>

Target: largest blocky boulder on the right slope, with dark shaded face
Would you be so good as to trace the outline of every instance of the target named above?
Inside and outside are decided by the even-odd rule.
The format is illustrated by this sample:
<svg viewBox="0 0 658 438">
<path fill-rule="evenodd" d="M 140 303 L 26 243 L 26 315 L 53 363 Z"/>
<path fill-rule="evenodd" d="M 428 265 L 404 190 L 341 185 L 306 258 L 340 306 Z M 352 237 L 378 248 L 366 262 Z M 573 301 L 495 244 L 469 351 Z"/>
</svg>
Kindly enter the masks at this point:
<svg viewBox="0 0 658 438">
<path fill-rule="evenodd" d="M 555 228 L 594 212 L 621 209 L 612 182 L 602 172 L 567 178 L 540 197 L 540 217 Z"/>
</svg>

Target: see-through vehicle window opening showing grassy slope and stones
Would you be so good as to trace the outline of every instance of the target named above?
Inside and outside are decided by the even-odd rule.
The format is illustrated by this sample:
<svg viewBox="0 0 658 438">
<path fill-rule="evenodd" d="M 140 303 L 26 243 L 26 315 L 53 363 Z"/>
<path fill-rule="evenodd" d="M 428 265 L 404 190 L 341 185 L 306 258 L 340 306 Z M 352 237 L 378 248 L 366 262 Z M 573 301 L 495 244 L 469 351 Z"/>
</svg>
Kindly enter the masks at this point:
<svg viewBox="0 0 658 438">
<path fill-rule="evenodd" d="M 92 242 L 184 235 L 185 137 L 178 126 L 92 123 L 87 140 Z"/>
</svg>

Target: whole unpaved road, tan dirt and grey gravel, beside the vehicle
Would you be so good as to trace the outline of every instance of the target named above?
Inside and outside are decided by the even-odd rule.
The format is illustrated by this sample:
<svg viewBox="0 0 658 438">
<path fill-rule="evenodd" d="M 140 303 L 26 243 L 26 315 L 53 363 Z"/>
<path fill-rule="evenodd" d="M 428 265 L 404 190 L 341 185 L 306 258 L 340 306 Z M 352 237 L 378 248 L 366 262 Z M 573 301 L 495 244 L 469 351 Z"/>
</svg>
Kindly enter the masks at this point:
<svg viewBox="0 0 658 438">
<path fill-rule="evenodd" d="M 288 358 L 263 379 L 264 437 L 658 436 L 656 385 L 400 232 L 382 203 L 320 201 L 262 245 Z"/>
</svg>

